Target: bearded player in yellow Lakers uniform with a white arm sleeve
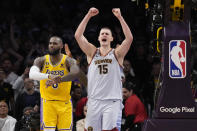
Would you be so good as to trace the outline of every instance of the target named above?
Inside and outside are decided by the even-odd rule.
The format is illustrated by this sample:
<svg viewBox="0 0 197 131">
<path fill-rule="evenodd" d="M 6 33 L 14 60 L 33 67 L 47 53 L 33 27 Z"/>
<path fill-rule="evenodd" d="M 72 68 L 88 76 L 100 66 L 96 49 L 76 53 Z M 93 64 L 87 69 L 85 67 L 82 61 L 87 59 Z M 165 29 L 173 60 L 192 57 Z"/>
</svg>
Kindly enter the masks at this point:
<svg viewBox="0 0 197 131">
<path fill-rule="evenodd" d="M 49 54 L 38 57 L 30 69 L 29 77 L 40 81 L 41 130 L 72 130 L 71 81 L 87 80 L 76 60 L 61 53 L 63 42 L 53 36 L 49 41 Z"/>
</svg>

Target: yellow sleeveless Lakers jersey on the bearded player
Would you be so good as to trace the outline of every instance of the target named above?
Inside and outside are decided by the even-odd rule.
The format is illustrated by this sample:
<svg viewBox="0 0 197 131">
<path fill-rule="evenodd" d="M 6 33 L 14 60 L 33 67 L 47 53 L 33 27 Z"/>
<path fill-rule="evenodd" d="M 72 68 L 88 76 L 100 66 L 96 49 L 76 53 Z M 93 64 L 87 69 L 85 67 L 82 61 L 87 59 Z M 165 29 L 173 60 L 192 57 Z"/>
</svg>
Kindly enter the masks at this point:
<svg viewBox="0 0 197 131">
<path fill-rule="evenodd" d="M 61 61 L 58 64 L 52 65 L 49 55 L 45 55 L 45 62 L 41 72 L 46 74 L 59 75 L 61 77 L 67 75 L 68 69 L 65 64 L 66 57 L 67 55 L 63 55 Z M 40 81 L 41 98 L 46 100 L 59 100 L 65 102 L 70 100 L 71 81 L 61 82 L 48 87 L 46 87 L 46 81 L 47 79 Z"/>
</svg>

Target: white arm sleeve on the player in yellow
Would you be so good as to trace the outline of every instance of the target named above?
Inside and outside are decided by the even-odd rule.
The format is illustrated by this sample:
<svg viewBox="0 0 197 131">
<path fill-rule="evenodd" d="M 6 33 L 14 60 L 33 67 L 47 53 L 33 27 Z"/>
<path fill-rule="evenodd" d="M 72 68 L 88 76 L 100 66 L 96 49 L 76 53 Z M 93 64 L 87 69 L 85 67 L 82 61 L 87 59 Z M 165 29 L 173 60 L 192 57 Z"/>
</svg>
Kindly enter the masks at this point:
<svg viewBox="0 0 197 131">
<path fill-rule="evenodd" d="M 29 78 L 33 80 L 44 80 L 48 79 L 49 74 L 40 73 L 40 69 L 37 66 L 32 66 L 29 71 Z"/>
</svg>

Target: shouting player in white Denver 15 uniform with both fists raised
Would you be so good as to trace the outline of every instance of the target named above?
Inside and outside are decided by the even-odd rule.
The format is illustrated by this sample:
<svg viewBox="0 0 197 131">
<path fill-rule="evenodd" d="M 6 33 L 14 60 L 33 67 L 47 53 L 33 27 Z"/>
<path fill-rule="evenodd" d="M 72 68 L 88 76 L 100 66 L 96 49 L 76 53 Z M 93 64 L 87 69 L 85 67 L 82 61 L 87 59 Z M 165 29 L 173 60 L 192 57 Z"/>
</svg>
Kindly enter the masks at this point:
<svg viewBox="0 0 197 131">
<path fill-rule="evenodd" d="M 75 38 L 87 55 L 88 69 L 88 111 L 85 129 L 88 131 L 117 131 L 118 115 L 122 110 L 121 68 L 123 60 L 133 36 L 121 16 L 119 8 L 112 9 L 118 18 L 125 35 L 122 44 L 116 49 L 111 48 L 113 41 L 109 28 L 102 28 L 98 37 L 100 48 L 96 48 L 84 37 L 86 25 L 99 10 L 90 8 L 75 32 Z"/>
</svg>

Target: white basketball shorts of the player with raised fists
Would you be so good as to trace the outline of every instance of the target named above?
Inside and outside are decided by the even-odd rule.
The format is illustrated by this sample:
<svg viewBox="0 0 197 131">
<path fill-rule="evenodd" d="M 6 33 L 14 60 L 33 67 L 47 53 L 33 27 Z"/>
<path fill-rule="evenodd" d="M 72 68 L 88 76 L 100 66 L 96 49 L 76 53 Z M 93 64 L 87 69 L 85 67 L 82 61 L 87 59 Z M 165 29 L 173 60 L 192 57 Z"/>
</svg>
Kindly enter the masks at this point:
<svg viewBox="0 0 197 131">
<path fill-rule="evenodd" d="M 118 128 L 121 100 L 88 99 L 85 128 L 87 131 L 112 130 Z M 121 117 L 121 116 L 120 116 Z"/>
</svg>

